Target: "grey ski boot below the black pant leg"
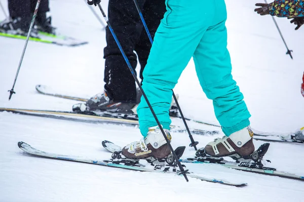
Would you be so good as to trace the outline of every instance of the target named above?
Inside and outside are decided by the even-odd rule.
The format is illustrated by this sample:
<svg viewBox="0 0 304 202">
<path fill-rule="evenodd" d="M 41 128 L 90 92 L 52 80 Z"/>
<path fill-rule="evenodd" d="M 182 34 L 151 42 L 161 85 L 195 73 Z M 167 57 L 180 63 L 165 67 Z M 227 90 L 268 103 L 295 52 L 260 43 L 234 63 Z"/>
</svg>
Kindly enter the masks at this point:
<svg viewBox="0 0 304 202">
<path fill-rule="evenodd" d="M 111 96 L 104 90 L 87 100 L 87 102 L 73 105 L 73 112 L 110 112 L 121 114 L 134 114 L 136 103 L 114 102 Z"/>
</svg>

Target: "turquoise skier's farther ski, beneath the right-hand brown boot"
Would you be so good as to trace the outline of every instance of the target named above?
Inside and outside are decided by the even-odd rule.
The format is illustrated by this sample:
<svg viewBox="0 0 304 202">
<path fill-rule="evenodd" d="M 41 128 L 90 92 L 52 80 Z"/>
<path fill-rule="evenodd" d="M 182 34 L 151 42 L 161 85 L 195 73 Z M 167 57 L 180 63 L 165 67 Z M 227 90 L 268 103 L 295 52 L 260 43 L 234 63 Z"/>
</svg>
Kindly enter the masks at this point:
<svg viewBox="0 0 304 202">
<path fill-rule="evenodd" d="M 102 146 L 111 153 L 122 150 L 120 146 L 107 140 L 102 141 Z M 264 143 L 256 151 L 257 153 L 263 153 L 262 154 L 263 156 L 267 152 L 268 147 L 269 147 L 269 143 Z M 226 168 L 232 168 L 240 171 L 304 181 L 304 175 L 298 176 L 288 172 L 277 171 L 275 168 L 263 167 L 262 164 L 258 164 L 258 163 L 245 163 L 245 162 L 237 163 L 232 161 L 226 161 L 223 158 L 210 159 L 210 158 L 199 158 L 199 157 L 180 159 L 180 162 L 196 163 L 196 164 L 218 164 L 219 166 L 224 166 Z"/>
</svg>

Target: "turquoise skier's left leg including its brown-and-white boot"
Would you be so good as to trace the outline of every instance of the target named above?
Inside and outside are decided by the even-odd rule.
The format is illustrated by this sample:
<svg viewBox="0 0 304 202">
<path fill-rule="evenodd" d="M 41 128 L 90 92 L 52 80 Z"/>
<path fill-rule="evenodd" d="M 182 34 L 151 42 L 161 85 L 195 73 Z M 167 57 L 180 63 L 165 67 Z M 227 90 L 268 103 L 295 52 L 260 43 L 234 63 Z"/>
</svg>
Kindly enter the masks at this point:
<svg viewBox="0 0 304 202">
<path fill-rule="evenodd" d="M 167 12 L 155 34 L 143 71 L 142 88 L 168 139 L 172 89 L 209 27 L 210 18 L 206 16 L 213 16 L 214 1 L 193 0 L 191 4 L 184 0 L 166 1 Z M 170 150 L 143 97 L 137 112 L 145 138 L 125 146 L 122 154 L 127 158 L 165 158 Z"/>
</svg>

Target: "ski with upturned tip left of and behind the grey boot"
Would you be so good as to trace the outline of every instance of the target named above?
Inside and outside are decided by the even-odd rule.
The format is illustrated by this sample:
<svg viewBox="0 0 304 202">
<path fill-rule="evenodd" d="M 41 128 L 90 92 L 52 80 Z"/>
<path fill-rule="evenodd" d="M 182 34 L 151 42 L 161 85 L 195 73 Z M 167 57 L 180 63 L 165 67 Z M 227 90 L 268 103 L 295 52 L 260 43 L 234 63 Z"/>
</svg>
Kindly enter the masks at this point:
<svg viewBox="0 0 304 202">
<path fill-rule="evenodd" d="M 69 95 L 68 93 L 57 93 L 54 90 L 52 90 L 52 88 L 50 88 L 46 85 L 36 85 L 35 88 L 36 88 L 37 92 L 39 92 L 41 94 L 44 94 L 44 95 L 61 97 L 61 98 L 65 98 L 65 99 L 78 100 L 78 101 L 81 101 L 81 102 L 87 102 L 87 100 L 90 98 L 90 97 L 86 98 L 86 97 L 73 96 L 73 95 Z M 180 116 L 173 116 L 173 117 L 181 119 Z M 185 120 L 193 121 L 193 122 L 208 125 L 208 126 L 220 127 L 220 126 L 215 125 L 215 124 L 210 124 L 210 123 L 206 123 L 206 122 L 198 121 L 198 120 L 194 120 L 194 119 L 185 118 Z"/>
</svg>

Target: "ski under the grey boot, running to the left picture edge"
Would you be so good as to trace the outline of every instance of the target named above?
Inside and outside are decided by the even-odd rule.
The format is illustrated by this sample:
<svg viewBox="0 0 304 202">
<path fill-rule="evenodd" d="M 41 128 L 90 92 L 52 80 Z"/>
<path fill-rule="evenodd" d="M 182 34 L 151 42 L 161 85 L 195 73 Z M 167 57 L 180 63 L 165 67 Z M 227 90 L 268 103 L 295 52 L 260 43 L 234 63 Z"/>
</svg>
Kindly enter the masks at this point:
<svg viewBox="0 0 304 202">
<path fill-rule="evenodd" d="M 104 124 L 116 124 L 127 126 L 138 126 L 138 118 L 134 115 L 126 114 L 108 114 L 100 113 L 95 114 L 93 112 L 75 113 L 69 111 L 50 111 L 50 110 L 32 110 L 32 109 L 15 109 L 15 108 L 0 108 L 0 112 L 12 112 L 14 114 L 28 115 L 35 117 L 45 117 L 68 121 L 77 121 L 85 123 L 104 123 Z M 172 132 L 186 132 L 178 126 L 171 125 Z M 193 134 L 208 134 L 215 135 L 219 131 L 208 131 L 200 129 L 190 129 Z"/>
</svg>

